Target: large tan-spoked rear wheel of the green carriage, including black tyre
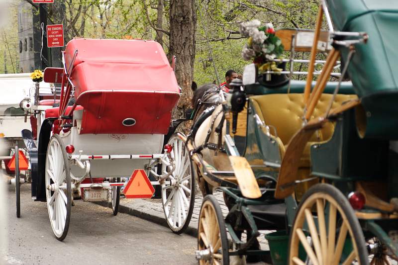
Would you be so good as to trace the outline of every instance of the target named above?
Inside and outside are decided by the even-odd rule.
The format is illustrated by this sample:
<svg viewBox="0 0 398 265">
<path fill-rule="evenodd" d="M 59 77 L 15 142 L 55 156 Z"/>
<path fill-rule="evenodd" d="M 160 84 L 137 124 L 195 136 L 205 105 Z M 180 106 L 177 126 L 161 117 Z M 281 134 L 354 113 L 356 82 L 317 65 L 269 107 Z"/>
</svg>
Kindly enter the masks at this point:
<svg viewBox="0 0 398 265">
<path fill-rule="evenodd" d="M 301 199 L 291 231 L 290 265 L 305 264 L 304 257 L 300 257 L 305 255 L 299 255 L 299 248 L 305 250 L 307 261 L 313 265 L 369 264 L 354 210 L 330 184 L 314 185 Z"/>
</svg>

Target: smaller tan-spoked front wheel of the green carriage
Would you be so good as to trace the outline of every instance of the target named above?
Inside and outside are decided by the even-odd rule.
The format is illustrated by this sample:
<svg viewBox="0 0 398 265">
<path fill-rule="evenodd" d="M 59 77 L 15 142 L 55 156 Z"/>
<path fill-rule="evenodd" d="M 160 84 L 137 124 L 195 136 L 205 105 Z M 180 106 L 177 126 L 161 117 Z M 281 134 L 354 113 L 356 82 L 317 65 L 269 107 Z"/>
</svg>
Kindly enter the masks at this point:
<svg viewBox="0 0 398 265">
<path fill-rule="evenodd" d="M 204 197 L 200 208 L 197 259 L 200 265 L 229 265 L 224 217 L 214 195 Z"/>
</svg>

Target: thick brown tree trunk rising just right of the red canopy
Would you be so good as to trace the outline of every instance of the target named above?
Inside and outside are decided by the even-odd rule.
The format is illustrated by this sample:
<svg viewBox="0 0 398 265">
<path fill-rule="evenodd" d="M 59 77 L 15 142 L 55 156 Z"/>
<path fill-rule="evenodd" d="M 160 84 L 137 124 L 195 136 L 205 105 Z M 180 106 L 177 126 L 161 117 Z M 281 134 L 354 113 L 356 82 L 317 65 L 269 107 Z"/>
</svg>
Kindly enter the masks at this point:
<svg viewBox="0 0 398 265">
<path fill-rule="evenodd" d="M 192 81 L 195 62 L 196 31 L 195 0 L 170 1 L 170 50 L 169 58 L 177 57 L 176 78 L 183 94 L 173 118 L 184 117 L 191 107 Z"/>
</svg>

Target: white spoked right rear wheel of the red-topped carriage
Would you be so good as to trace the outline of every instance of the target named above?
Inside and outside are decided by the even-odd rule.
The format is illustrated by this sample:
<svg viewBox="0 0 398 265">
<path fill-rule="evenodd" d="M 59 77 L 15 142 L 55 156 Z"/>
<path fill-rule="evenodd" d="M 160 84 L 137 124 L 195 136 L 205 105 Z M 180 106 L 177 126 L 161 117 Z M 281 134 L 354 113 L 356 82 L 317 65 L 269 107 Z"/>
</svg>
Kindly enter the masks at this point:
<svg viewBox="0 0 398 265">
<path fill-rule="evenodd" d="M 172 135 L 169 140 L 173 150 L 170 156 L 174 158 L 175 170 L 162 184 L 163 211 L 170 229 L 176 233 L 183 233 L 192 217 L 195 203 L 195 176 L 192 161 L 188 151 L 184 151 L 184 143 L 177 136 Z M 166 159 L 168 162 L 169 159 Z M 162 174 L 170 172 L 172 167 L 162 167 Z"/>
</svg>

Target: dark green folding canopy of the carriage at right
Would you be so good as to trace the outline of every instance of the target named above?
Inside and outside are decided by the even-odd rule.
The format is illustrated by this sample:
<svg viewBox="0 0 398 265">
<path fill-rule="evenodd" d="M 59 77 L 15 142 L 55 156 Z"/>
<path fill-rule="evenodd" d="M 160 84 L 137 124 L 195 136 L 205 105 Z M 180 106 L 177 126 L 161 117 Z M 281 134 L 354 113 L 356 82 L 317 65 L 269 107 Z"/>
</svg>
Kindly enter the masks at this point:
<svg viewBox="0 0 398 265">
<path fill-rule="evenodd" d="M 398 139 L 398 1 L 326 1 L 335 31 L 369 35 L 348 68 L 366 111 L 365 137 Z M 344 61 L 348 49 L 341 53 Z"/>
</svg>

